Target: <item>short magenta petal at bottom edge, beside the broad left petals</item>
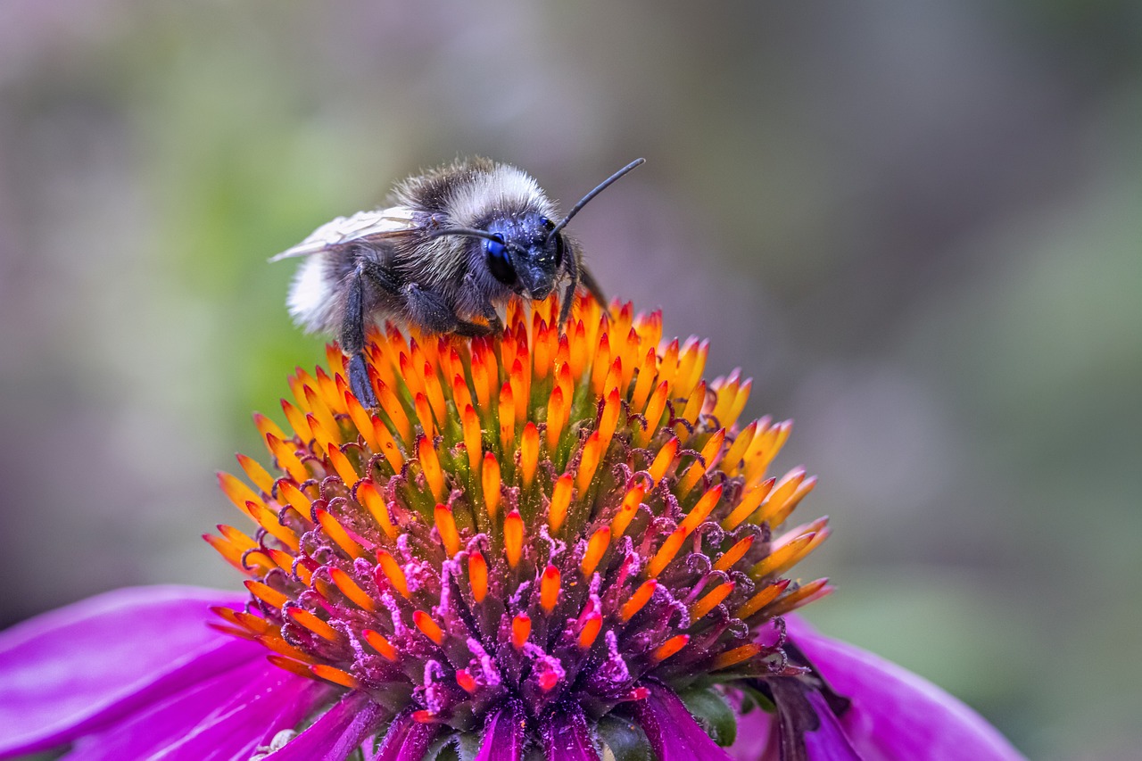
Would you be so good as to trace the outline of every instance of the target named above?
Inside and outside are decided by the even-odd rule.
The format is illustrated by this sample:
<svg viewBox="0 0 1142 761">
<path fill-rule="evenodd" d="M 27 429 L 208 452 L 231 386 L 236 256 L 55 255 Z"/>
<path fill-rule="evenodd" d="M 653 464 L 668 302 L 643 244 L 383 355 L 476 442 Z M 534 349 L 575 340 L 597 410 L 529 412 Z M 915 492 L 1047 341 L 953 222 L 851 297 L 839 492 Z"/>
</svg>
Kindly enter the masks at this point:
<svg viewBox="0 0 1142 761">
<path fill-rule="evenodd" d="M 384 723 L 384 708 L 363 692 L 349 692 L 265 761 L 345 761 Z M 172 756 L 170 761 L 174 758 L 190 761 L 193 756 Z"/>
</svg>

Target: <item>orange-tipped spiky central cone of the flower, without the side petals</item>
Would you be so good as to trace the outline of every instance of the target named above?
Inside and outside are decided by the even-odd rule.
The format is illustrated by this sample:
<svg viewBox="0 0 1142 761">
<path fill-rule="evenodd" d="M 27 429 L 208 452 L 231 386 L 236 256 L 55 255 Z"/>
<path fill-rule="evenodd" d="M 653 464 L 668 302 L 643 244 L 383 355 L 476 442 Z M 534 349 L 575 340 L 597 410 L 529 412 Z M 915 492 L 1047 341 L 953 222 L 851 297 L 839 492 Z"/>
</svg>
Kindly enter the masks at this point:
<svg viewBox="0 0 1142 761">
<path fill-rule="evenodd" d="M 814 483 L 769 475 L 790 424 L 740 420 L 750 382 L 705 380 L 659 313 L 555 309 L 488 338 L 387 326 L 377 409 L 330 346 L 289 430 L 256 417 L 275 472 L 219 476 L 254 530 L 207 537 L 249 577 L 218 628 L 328 686 L 377 758 L 729 758 L 726 698 L 825 689 L 778 618 L 830 591 L 790 574 L 829 534 L 786 528 Z"/>
</svg>

